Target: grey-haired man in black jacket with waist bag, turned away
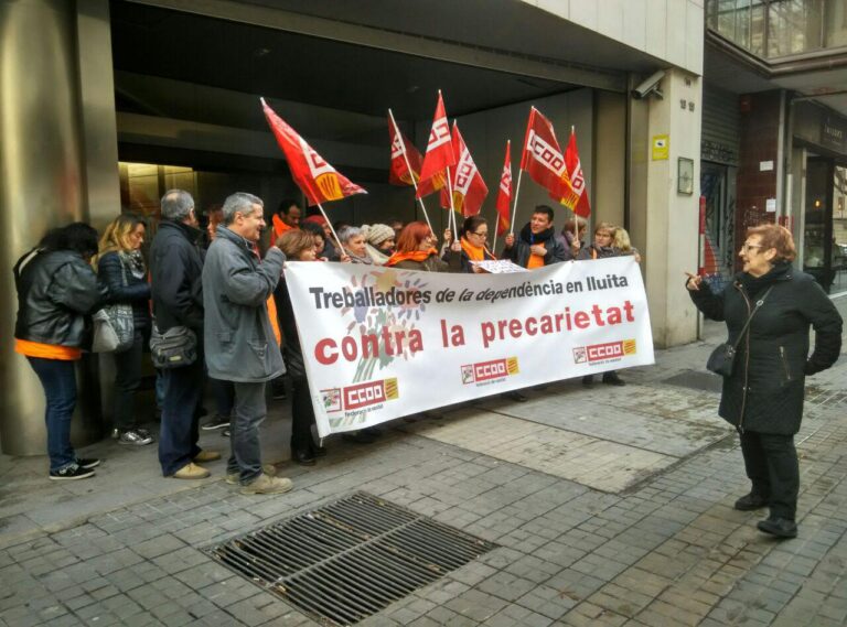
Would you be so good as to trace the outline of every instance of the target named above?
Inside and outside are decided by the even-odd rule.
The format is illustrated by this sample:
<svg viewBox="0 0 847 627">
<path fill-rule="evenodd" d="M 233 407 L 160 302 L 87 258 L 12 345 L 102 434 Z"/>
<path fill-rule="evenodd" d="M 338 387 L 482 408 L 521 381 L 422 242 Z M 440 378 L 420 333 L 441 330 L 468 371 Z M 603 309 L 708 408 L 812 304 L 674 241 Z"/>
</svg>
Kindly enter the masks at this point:
<svg viewBox="0 0 847 627">
<path fill-rule="evenodd" d="M 194 198 L 184 190 L 162 196 L 162 221 L 150 246 L 150 291 L 156 327 L 164 333 L 187 327 L 203 338 L 203 258 Z M 203 352 L 197 346 L 193 364 L 161 371 L 164 380 L 159 463 L 165 477 L 203 479 L 208 471 L 195 462 L 221 458 L 216 451 L 197 446 L 200 401 L 203 390 Z"/>
</svg>

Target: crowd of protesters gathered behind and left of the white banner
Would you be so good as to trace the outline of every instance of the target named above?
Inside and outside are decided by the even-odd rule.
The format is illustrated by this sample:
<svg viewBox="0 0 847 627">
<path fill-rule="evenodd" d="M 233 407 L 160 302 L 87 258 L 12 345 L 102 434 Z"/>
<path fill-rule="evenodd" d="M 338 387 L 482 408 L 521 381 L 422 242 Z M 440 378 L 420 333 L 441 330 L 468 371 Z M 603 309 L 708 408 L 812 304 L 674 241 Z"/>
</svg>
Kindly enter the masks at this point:
<svg viewBox="0 0 847 627">
<path fill-rule="evenodd" d="M 440 248 L 426 221 L 331 226 L 323 215 L 303 216 L 292 199 L 283 201 L 266 225 L 262 201 L 246 193 L 211 207 L 205 233 L 200 218 L 191 194 L 172 190 L 162 197 L 147 256 L 146 220 L 122 213 L 101 237 L 84 223 L 53 229 L 15 266 L 15 350 L 26 357 L 45 392 L 51 479 L 87 478 L 99 465 L 99 460 L 77 457 L 69 424 L 76 407 L 74 361 L 90 348 L 92 316 L 104 306 L 131 309 L 131 338 L 112 355 L 112 437 L 127 446 L 154 442 L 135 410 L 143 354 L 151 335 L 178 353 L 186 343 L 191 346 L 180 355 L 179 367 L 157 369 L 162 474 L 207 477 L 203 464 L 219 460 L 221 453 L 199 446 L 200 431 L 221 430 L 230 441 L 226 480 L 245 494 L 279 494 L 291 482 L 261 463 L 258 428 L 267 414 L 266 383 L 275 399 L 282 399 L 283 376 L 290 380 L 291 458 L 313 465 L 325 453 L 312 434 L 307 370 L 282 273 L 286 259 L 474 273 L 484 271 L 478 262 L 495 259 L 487 247 L 487 221 L 480 216 L 467 218 L 458 237 L 446 230 Z M 585 242 L 586 229 L 586 220 L 575 217 L 555 233 L 553 209 L 540 205 L 519 233 L 505 237 L 501 258 L 533 270 L 572 259 L 637 256 L 623 229 L 601 223 L 593 241 Z M 270 246 L 260 252 L 266 230 Z M 614 372 L 603 381 L 623 385 Z M 591 385 L 590 377 L 583 382 Z M 201 424 L 206 388 L 216 407 Z M 526 400 L 519 392 L 505 396 Z M 371 428 L 344 437 L 366 444 L 378 436 L 378 429 Z"/>
</svg>

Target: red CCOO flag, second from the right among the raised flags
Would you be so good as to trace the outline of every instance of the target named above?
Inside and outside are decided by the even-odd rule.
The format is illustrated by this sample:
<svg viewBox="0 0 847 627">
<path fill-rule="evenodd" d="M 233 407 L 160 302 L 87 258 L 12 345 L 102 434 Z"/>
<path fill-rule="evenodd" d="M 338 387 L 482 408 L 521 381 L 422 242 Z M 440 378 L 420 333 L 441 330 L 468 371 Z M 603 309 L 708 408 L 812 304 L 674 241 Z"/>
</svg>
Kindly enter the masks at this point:
<svg viewBox="0 0 847 627">
<path fill-rule="evenodd" d="M 565 155 L 556 140 L 553 125 L 535 107 L 529 110 L 529 119 L 526 122 L 521 170 L 545 187 L 553 199 L 573 208 L 577 195 L 570 186 Z"/>
</svg>

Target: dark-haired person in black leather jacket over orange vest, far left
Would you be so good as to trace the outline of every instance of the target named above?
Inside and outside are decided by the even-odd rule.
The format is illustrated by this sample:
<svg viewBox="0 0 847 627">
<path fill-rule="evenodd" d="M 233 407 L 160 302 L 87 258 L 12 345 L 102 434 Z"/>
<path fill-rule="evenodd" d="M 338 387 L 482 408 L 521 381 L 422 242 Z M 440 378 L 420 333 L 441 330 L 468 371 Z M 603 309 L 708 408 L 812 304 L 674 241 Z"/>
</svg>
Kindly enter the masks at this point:
<svg viewBox="0 0 847 627">
<path fill-rule="evenodd" d="M 14 264 L 18 320 L 14 350 L 39 377 L 46 406 L 50 478 L 94 476 L 99 460 L 76 456 L 71 418 L 76 408 L 76 368 L 90 345 L 88 315 L 105 302 L 105 290 L 89 261 L 97 253 L 97 231 L 83 223 L 56 228 Z"/>
</svg>

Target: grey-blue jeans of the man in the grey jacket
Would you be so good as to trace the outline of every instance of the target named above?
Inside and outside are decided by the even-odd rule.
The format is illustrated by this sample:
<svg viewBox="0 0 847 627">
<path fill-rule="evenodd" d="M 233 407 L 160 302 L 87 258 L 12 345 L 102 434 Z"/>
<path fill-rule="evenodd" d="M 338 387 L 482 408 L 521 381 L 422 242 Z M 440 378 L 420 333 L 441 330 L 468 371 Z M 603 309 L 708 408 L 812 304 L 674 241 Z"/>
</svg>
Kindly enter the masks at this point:
<svg viewBox="0 0 847 627">
<path fill-rule="evenodd" d="M 226 473 L 238 473 L 239 483 L 247 485 L 261 474 L 259 425 L 267 414 L 265 382 L 233 385 L 235 407 L 229 419 L 232 454 L 226 463 Z"/>
</svg>

